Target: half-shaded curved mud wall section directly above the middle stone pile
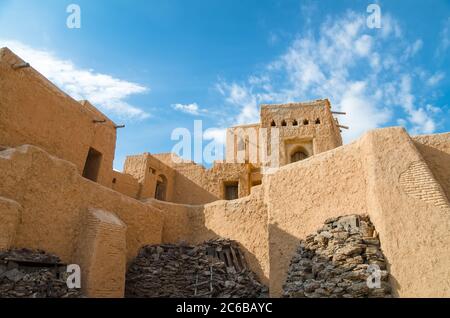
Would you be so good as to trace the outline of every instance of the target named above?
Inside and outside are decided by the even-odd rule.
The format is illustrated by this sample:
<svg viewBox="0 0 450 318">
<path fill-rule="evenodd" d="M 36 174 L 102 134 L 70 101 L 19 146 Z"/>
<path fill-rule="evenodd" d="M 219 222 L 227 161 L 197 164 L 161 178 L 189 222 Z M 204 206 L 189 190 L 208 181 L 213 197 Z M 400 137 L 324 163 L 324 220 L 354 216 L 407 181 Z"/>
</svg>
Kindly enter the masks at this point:
<svg viewBox="0 0 450 318">
<path fill-rule="evenodd" d="M 267 284 L 267 208 L 261 191 L 257 187 L 251 196 L 204 206 L 157 200 L 149 200 L 147 204 L 160 209 L 164 215 L 163 242 L 196 244 L 219 237 L 236 240 L 250 268 Z"/>
</svg>

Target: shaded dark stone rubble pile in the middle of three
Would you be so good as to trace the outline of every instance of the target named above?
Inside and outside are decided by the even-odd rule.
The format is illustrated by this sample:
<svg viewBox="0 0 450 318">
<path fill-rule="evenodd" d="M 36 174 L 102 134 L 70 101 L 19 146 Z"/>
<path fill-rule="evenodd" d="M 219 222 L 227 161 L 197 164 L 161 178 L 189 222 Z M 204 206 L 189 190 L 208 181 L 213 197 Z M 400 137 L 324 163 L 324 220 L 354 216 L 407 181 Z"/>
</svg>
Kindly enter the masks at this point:
<svg viewBox="0 0 450 318">
<path fill-rule="evenodd" d="M 267 288 L 247 268 L 236 242 L 143 247 L 127 272 L 130 298 L 256 298 Z"/>
</svg>

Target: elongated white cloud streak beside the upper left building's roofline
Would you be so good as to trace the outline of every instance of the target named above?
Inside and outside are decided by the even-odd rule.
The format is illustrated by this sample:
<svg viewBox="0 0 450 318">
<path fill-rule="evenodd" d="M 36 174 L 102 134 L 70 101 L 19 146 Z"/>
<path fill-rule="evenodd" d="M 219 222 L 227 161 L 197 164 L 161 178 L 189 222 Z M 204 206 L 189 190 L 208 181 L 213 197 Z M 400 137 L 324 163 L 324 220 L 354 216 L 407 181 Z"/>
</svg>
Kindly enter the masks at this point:
<svg viewBox="0 0 450 318">
<path fill-rule="evenodd" d="M 150 116 L 144 110 L 126 102 L 131 95 L 148 91 L 140 84 L 79 68 L 73 62 L 58 58 L 51 52 L 37 50 L 18 41 L 0 39 L 0 47 L 4 46 L 30 63 L 74 99 L 89 100 L 102 111 L 121 119 L 142 120 Z"/>
</svg>

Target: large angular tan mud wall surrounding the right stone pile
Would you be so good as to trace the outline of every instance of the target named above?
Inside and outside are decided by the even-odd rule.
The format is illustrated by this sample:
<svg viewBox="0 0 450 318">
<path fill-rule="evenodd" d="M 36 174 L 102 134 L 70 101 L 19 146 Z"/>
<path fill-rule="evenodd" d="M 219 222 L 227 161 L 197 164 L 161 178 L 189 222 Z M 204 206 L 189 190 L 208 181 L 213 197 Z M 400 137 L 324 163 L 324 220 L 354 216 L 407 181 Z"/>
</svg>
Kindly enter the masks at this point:
<svg viewBox="0 0 450 318">
<path fill-rule="evenodd" d="M 403 129 L 371 131 L 283 167 L 265 184 L 273 296 L 299 240 L 327 218 L 348 214 L 370 216 L 397 296 L 450 296 L 448 201 Z"/>
</svg>

